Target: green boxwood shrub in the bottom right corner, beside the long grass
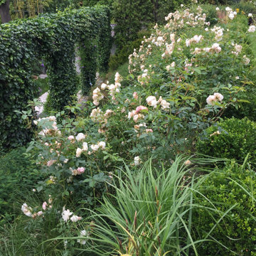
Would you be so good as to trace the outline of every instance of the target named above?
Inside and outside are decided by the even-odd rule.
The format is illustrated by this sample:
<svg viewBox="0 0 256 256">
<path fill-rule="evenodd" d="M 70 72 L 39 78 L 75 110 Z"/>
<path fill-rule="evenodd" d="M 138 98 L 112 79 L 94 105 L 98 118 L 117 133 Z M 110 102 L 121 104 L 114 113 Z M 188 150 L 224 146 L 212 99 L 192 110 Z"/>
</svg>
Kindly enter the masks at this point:
<svg viewBox="0 0 256 256">
<path fill-rule="evenodd" d="M 255 255 L 255 189 L 255 171 L 235 161 L 207 176 L 199 188 L 203 196 L 196 196 L 194 201 L 200 207 L 193 212 L 192 223 L 195 239 L 218 242 L 203 242 L 198 247 L 200 255 Z M 213 205 L 215 210 L 206 210 Z"/>
</svg>

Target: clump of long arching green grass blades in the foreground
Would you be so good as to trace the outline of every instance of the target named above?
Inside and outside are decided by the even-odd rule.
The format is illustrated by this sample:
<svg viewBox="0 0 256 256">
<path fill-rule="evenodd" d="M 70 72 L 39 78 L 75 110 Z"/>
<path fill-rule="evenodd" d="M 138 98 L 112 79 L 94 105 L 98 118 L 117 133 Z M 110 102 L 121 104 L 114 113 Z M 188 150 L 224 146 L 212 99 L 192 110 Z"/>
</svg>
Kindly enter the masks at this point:
<svg viewBox="0 0 256 256">
<path fill-rule="evenodd" d="M 153 169 L 151 161 L 134 173 L 128 167 L 116 176 L 113 197 L 105 197 L 88 223 L 97 255 L 198 255 L 191 236 L 193 193 L 202 178 L 178 156 L 169 169 Z"/>
</svg>

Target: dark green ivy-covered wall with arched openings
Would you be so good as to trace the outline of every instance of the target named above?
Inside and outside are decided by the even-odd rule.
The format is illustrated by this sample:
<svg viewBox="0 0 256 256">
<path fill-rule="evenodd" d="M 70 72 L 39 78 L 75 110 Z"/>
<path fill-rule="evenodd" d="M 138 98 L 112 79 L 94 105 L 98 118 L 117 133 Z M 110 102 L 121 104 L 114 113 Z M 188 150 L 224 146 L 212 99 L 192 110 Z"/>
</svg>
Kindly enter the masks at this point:
<svg viewBox="0 0 256 256">
<path fill-rule="evenodd" d="M 81 60 L 87 67 L 94 67 L 93 71 L 84 68 L 82 72 L 82 91 L 88 91 L 93 82 L 88 82 L 88 76 L 95 78 L 97 68 L 106 68 L 110 56 L 109 14 L 107 6 L 85 7 L 0 26 L 0 148 L 15 147 L 30 139 L 26 124 L 14 110 L 26 110 L 28 100 L 35 96 L 32 70 L 36 58 L 46 60 L 50 107 L 61 110 L 78 84 L 75 43 L 90 49 L 92 41 L 97 49 L 95 58 L 90 58 L 87 50 Z"/>
</svg>

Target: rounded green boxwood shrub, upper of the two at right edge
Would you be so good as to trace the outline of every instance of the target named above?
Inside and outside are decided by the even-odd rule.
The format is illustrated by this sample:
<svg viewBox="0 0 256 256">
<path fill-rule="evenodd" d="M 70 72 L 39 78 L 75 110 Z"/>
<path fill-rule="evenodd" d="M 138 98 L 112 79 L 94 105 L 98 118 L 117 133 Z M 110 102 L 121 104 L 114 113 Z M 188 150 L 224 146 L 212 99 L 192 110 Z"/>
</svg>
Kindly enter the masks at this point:
<svg viewBox="0 0 256 256">
<path fill-rule="evenodd" d="M 226 119 L 206 129 L 198 138 L 198 153 L 243 161 L 256 161 L 256 123 L 247 118 Z"/>
</svg>

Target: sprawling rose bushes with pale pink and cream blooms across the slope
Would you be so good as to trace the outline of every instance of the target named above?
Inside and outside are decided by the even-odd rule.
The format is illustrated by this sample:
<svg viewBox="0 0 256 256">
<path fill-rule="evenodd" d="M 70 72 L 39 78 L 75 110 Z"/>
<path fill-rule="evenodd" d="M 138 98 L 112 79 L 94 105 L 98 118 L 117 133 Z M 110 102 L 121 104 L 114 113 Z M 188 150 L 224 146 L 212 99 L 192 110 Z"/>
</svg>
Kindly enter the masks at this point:
<svg viewBox="0 0 256 256">
<path fill-rule="evenodd" d="M 243 26 L 230 31 L 239 17 L 232 9 L 225 16 L 225 23 L 210 27 L 200 6 L 169 14 L 166 26 L 156 25 L 130 55 L 129 86 L 117 73 L 114 82 L 93 90 L 84 110 L 67 107 L 75 118 L 63 111 L 36 120 L 38 139 L 29 148 L 39 151 L 44 175 L 37 191 L 51 195 L 53 204 L 49 208 L 44 199 L 41 208 L 23 210 L 31 217 L 55 210 L 63 229 L 80 225 L 87 211 L 77 212 L 73 202 L 76 208 L 94 207 L 103 193 L 111 193 L 125 165 L 137 169 L 151 157 L 153 166 L 168 168 L 177 153 L 193 149 L 196 135 L 227 107 L 237 107 L 251 82 L 252 58 L 245 44 L 250 32 Z M 82 245 L 90 234 L 85 231 L 78 238 Z"/>
</svg>

